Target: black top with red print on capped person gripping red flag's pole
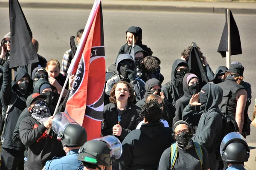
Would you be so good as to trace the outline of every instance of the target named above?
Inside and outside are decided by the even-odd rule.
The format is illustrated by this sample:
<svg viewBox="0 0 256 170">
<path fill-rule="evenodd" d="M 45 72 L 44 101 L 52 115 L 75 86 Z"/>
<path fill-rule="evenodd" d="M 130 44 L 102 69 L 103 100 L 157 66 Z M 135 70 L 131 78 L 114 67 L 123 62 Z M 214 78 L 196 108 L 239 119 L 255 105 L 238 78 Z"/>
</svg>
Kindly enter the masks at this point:
<svg viewBox="0 0 256 170">
<path fill-rule="evenodd" d="M 41 170 L 46 161 L 54 156 L 65 156 L 62 144 L 52 130 L 46 134 L 46 127 L 32 117 L 26 117 L 20 122 L 19 133 L 22 143 L 27 146 L 28 159 L 26 170 Z"/>
</svg>

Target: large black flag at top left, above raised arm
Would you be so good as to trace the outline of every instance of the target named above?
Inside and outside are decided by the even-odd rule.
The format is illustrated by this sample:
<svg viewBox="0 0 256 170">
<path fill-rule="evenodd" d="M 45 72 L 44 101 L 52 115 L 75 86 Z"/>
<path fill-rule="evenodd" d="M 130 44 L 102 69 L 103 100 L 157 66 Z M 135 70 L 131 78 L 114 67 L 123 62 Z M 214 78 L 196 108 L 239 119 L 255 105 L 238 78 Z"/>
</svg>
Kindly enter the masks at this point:
<svg viewBox="0 0 256 170">
<path fill-rule="evenodd" d="M 38 62 L 32 32 L 18 0 L 9 0 L 11 50 L 10 68 Z"/>
</svg>

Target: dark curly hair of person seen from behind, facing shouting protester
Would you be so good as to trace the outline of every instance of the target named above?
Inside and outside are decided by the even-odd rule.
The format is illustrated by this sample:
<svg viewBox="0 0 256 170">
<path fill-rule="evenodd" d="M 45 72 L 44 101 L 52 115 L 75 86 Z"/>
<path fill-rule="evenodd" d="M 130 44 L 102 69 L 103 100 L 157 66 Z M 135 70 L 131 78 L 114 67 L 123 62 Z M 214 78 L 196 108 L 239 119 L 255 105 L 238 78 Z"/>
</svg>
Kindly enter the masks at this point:
<svg viewBox="0 0 256 170">
<path fill-rule="evenodd" d="M 160 119 L 163 119 L 163 110 L 158 103 L 158 99 L 146 102 L 141 108 L 139 117 L 141 119 L 145 118 L 145 121 L 148 123 L 159 122 Z"/>
</svg>

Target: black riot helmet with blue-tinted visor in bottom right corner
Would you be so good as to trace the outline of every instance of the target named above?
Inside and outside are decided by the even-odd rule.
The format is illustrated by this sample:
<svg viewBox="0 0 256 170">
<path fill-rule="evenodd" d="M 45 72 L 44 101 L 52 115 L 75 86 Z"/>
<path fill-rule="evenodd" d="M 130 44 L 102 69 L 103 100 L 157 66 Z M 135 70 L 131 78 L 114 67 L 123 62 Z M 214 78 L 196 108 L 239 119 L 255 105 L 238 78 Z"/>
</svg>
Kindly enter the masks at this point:
<svg viewBox="0 0 256 170">
<path fill-rule="evenodd" d="M 223 161 L 243 163 L 250 157 L 250 148 L 240 133 L 228 133 L 221 142 Z"/>
</svg>

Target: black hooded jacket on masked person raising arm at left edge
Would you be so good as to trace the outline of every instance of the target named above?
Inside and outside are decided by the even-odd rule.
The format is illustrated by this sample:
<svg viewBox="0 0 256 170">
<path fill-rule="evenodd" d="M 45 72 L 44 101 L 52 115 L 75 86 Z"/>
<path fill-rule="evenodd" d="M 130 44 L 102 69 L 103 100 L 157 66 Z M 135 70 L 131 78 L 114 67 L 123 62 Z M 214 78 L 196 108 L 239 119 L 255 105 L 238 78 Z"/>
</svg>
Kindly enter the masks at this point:
<svg viewBox="0 0 256 170">
<path fill-rule="evenodd" d="M 3 85 L 0 92 L 0 98 L 1 102 L 3 104 L 3 107 L 5 108 L 5 112 L 8 108 L 8 105 L 12 105 L 10 107 L 8 116 L 5 122 L 4 127 L 4 134 L 2 134 L 2 137 L 4 137 L 3 146 L 4 148 L 9 148 L 13 150 L 18 151 L 24 151 L 25 147 L 21 142 L 15 142 L 12 139 L 13 132 L 15 130 L 15 126 L 18 120 L 18 117 L 20 116 L 20 113 L 26 108 L 26 98 L 31 94 L 30 92 L 27 92 L 26 94 L 22 94 L 17 90 L 17 84 L 16 82 L 21 79 L 23 76 L 26 76 L 29 78 L 29 90 L 33 90 L 33 82 L 32 79 L 30 79 L 29 74 L 22 68 L 17 68 L 17 74 L 15 75 L 15 79 L 12 82 L 12 73 L 11 69 L 9 68 L 9 63 L 6 62 L 4 65 L 4 71 L 3 71 Z"/>
</svg>

